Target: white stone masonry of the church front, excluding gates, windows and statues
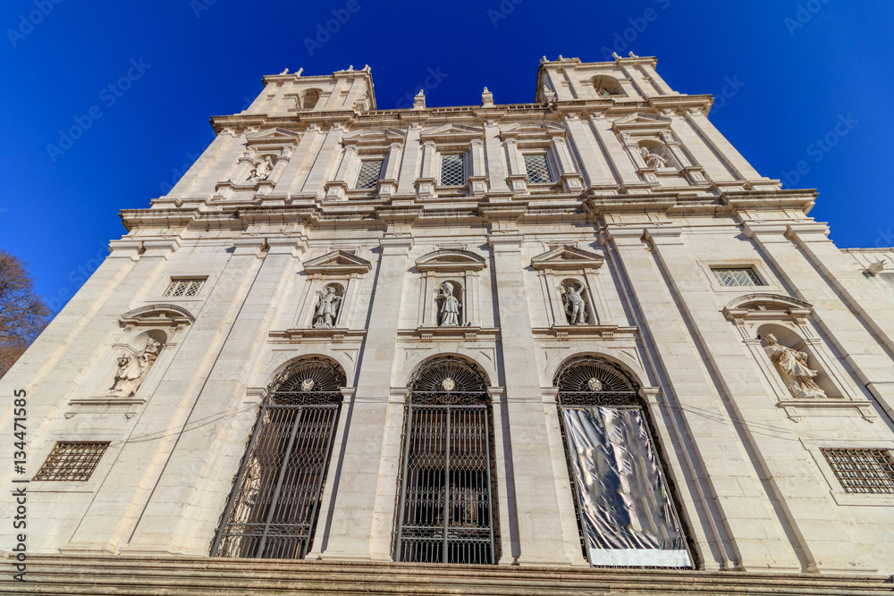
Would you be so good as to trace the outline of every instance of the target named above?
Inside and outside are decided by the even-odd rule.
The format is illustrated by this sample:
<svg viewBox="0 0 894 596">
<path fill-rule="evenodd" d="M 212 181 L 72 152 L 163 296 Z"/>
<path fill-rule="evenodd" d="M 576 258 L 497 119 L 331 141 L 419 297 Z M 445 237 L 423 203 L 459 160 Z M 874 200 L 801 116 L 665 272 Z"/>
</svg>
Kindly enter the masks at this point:
<svg viewBox="0 0 894 596">
<path fill-rule="evenodd" d="M 30 476 L 57 441 L 109 443 L 89 480 L 29 483 L 29 552 L 208 557 L 266 388 L 314 356 L 346 382 L 306 558 L 392 561 L 408 383 L 451 355 L 488 384 L 495 563 L 586 568 L 553 379 L 592 356 L 639 388 L 697 567 L 894 574 L 894 494 L 845 491 L 821 451 L 894 451 L 894 249 L 836 248 L 813 191 L 755 172 L 711 97 L 654 67 L 544 59 L 532 104 L 409 110 L 375 109 L 368 69 L 266 77 L 168 195 L 122 212 L 128 233 L 0 382 L 27 390 Z M 443 155 L 464 184 L 442 185 Z M 530 180 L 534 155 L 552 181 Z M 369 159 L 379 180 L 357 189 Z M 203 282 L 164 296 L 178 280 Z M 771 332 L 824 397 L 789 391 Z M 137 390 L 110 392 L 150 338 Z"/>
</svg>

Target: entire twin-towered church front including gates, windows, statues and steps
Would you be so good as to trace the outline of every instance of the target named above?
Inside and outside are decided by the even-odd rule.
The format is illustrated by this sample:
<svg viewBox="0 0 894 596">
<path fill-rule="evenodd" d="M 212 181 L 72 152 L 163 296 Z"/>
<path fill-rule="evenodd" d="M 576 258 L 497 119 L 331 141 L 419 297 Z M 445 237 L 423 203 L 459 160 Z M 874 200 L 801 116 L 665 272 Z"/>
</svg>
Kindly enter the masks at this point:
<svg viewBox="0 0 894 596">
<path fill-rule="evenodd" d="M 0 592 L 890 590 L 894 249 L 655 64 L 402 110 L 286 71 L 215 117 L 0 382 Z"/>
</svg>

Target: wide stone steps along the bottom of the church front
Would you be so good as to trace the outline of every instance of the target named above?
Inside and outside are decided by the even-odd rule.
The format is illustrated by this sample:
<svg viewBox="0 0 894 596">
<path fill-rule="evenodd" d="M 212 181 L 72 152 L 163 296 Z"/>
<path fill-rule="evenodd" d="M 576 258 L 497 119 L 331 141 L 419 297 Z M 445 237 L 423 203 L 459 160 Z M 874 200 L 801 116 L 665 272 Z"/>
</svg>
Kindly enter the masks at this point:
<svg viewBox="0 0 894 596">
<path fill-rule="evenodd" d="M 891 578 L 572 567 L 430 565 L 309 560 L 37 555 L 27 582 L 0 578 L 4 594 L 211 596 L 239 594 L 891 594 Z M 6 568 L 12 569 L 10 563 Z"/>
</svg>

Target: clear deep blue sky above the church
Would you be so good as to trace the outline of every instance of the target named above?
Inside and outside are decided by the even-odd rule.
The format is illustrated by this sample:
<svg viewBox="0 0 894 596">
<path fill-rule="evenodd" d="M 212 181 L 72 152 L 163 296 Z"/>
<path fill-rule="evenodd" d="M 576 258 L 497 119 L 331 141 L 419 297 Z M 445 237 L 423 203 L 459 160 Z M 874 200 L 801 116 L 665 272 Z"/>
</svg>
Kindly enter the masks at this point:
<svg viewBox="0 0 894 596">
<path fill-rule="evenodd" d="M 527 103 L 542 55 L 655 55 L 672 88 L 718 97 L 711 119 L 758 172 L 820 190 L 812 215 L 839 247 L 894 245 L 890 0 L 102 4 L 0 13 L 0 248 L 54 309 L 125 232 L 118 210 L 163 195 L 213 139 L 208 119 L 285 68 L 369 64 L 393 108 L 426 78 L 428 105 L 477 105 L 485 86 Z"/>
</svg>

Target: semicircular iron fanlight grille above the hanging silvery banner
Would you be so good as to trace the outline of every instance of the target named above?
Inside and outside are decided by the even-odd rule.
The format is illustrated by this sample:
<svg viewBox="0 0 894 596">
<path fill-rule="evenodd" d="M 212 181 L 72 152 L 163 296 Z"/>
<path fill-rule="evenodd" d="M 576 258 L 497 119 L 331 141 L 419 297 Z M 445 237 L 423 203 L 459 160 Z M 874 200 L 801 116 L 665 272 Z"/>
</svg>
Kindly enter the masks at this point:
<svg viewBox="0 0 894 596">
<path fill-rule="evenodd" d="M 553 384 L 560 406 L 639 407 L 637 388 L 628 375 L 596 358 L 580 358 L 562 366 Z"/>
</svg>

